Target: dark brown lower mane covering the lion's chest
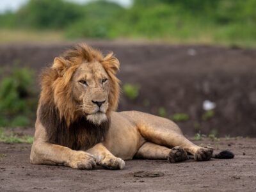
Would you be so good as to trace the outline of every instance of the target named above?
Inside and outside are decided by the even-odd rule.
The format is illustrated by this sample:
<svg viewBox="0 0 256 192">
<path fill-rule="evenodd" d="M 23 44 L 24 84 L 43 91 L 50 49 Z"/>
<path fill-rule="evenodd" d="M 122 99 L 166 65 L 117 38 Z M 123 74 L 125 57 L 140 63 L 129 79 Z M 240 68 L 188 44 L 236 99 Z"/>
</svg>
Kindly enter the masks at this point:
<svg viewBox="0 0 256 192">
<path fill-rule="evenodd" d="M 110 119 L 95 125 L 84 116 L 68 126 L 52 104 L 42 104 L 39 115 L 40 122 L 46 129 L 48 141 L 73 150 L 86 150 L 102 142 L 109 129 Z"/>
</svg>

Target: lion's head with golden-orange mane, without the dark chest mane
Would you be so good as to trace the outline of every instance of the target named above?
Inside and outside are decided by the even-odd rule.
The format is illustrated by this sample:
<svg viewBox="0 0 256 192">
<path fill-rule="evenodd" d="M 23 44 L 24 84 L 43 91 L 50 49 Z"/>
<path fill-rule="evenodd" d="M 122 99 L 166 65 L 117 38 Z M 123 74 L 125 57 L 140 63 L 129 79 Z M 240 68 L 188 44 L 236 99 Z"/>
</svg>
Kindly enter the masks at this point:
<svg viewBox="0 0 256 192">
<path fill-rule="evenodd" d="M 81 116 L 100 125 L 118 105 L 119 66 L 112 52 L 104 56 L 86 44 L 77 45 L 43 71 L 40 105 L 58 109 L 67 125 Z"/>
</svg>

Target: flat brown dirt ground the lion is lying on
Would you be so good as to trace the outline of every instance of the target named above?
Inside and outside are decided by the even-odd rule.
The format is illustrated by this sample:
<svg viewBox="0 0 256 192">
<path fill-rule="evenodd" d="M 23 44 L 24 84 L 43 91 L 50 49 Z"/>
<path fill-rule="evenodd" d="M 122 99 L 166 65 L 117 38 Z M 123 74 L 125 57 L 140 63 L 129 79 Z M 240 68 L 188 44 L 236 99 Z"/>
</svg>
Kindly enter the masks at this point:
<svg viewBox="0 0 256 192">
<path fill-rule="evenodd" d="M 34 130 L 13 129 L 19 135 Z M 29 163 L 29 144 L 0 143 L 0 191 L 255 191 L 256 139 L 195 141 L 216 152 L 228 149 L 234 159 L 170 164 L 167 161 L 125 161 L 124 170 L 75 170 Z"/>
</svg>

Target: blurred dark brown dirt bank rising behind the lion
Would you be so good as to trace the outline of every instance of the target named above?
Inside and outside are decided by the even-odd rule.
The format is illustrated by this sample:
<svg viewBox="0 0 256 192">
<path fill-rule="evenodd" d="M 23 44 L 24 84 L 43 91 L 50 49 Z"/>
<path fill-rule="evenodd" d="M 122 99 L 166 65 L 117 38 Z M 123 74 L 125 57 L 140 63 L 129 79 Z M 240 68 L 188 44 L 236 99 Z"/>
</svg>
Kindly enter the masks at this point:
<svg viewBox="0 0 256 192">
<path fill-rule="evenodd" d="M 0 65 L 19 63 L 38 72 L 75 43 L 0 45 Z M 140 95 L 123 94 L 118 111 L 138 110 L 166 117 L 186 113 L 177 122 L 185 134 L 201 131 L 218 136 L 256 136 L 256 50 L 206 45 L 166 45 L 134 42 L 88 42 L 120 60 L 122 84 L 140 86 Z M 38 76 L 35 81 L 38 82 Z M 39 92 L 39 88 L 38 88 Z M 202 120 L 204 100 L 216 103 L 214 116 Z"/>
</svg>

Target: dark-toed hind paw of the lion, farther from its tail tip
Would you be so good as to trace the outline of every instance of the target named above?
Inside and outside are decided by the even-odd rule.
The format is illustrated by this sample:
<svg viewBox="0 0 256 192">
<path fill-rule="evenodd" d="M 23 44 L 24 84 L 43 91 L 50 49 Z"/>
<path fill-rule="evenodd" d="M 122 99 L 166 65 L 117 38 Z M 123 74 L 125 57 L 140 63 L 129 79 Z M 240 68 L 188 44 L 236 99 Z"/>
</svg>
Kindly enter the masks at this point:
<svg viewBox="0 0 256 192">
<path fill-rule="evenodd" d="M 177 146 L 172 148 L 167 160 L 170 163 L 177 163 L 180 161 L 185 161 L 186 159 L 188 159 L 187 152 L 184 150 L 184 148 Z"/>
</svg>

